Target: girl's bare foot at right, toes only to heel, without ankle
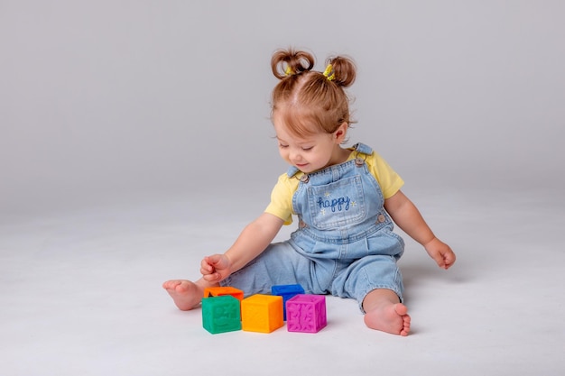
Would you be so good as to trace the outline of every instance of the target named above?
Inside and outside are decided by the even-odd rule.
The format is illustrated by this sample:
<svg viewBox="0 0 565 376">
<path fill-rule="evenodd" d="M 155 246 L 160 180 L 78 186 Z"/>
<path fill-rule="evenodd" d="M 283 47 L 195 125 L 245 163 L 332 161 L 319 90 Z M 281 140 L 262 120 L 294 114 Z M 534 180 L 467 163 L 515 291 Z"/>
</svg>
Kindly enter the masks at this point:
<svg viewBox="0 0 565 376">
<path fill-rule="evenodd" d="M 408 308 L 402 303 L 395 303 L 365 314 L 365 324 L 371 329 L 380 330 L 393 335 L 408 335 L 410 332 L 410 316 Z"/>
</svg>

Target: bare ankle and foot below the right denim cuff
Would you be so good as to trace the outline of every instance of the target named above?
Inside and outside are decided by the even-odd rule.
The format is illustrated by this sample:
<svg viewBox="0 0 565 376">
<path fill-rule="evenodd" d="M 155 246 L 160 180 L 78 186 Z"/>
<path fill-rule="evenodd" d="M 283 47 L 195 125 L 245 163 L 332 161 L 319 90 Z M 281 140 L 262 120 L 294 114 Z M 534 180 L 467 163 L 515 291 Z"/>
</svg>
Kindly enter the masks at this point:
<svg viewBox="0 0 565 376">
<path fill-rule="evenodd" d="M 408 335 L 410 316 L 396 293 L 390 289 L 374 289 L 363 300 L 365 324 L 371 329 L 393 335 Z"/>
</svg>

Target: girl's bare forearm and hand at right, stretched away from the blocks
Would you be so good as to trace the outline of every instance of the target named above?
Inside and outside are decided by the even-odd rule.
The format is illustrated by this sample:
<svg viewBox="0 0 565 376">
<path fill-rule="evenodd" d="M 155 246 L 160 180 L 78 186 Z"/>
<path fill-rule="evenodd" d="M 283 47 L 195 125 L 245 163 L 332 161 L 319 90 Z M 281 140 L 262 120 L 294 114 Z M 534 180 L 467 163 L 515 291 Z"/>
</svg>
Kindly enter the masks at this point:
<svg viewBox="0 0 565 376">
<path fill-rule="evenodd" d="M 384 208 L 393 218 L 394 223 L 410 235 L 416 242 L 421 243 L 430 257 L 443 269 L 449 269 L 455 262 L 455 253 L 448 244 L 443 243 L 426 224 L 418 208 L 412 201 L 398 191 L 393 197 L 384 200 Z"/>
</svg>

